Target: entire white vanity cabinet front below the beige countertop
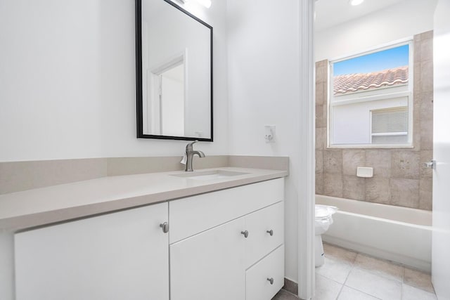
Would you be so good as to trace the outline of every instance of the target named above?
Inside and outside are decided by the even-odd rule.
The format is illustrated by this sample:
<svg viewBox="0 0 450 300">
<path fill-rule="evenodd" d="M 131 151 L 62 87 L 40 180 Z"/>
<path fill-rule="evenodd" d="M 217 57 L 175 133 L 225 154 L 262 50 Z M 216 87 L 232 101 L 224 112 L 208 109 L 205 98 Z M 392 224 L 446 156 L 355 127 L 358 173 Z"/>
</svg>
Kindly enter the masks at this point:
<svg viewBox="0 0 450 300">
<path fill-rule="evenodd" d="M 283 198 L 275 178 L 15 233 L 15 300 L 270 300 Z"/>
</svg>

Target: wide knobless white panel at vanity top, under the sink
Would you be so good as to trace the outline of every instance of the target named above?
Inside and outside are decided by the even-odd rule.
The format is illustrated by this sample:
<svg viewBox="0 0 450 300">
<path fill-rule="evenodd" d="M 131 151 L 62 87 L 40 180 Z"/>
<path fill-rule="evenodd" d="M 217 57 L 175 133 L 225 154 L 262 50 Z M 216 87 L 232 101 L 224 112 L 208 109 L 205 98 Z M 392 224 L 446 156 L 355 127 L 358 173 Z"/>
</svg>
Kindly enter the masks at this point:
<svg viewBox="0 0 450 300">
<path fill-rule="evenodd" d="M 280 202 L 284 179 L 252 183 L 169 202 L 169 241 L 183 240 L 252 211 Z"/>
</svg>

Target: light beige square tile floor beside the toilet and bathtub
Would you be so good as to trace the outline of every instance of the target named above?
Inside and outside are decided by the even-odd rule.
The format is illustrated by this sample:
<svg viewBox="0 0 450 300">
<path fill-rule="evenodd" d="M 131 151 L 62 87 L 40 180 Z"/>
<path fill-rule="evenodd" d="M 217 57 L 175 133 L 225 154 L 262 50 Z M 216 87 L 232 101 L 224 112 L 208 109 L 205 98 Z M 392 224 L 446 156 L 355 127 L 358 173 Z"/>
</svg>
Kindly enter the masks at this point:
<svg viewBox="0 0 450 300">
<path fill-rule="evenodd" d="M 323 248 L 314 300 L 437 300 L 428 273 L 331 244 Z M 295 299 L 281 290 L 272 300 Z"/>
</svg>

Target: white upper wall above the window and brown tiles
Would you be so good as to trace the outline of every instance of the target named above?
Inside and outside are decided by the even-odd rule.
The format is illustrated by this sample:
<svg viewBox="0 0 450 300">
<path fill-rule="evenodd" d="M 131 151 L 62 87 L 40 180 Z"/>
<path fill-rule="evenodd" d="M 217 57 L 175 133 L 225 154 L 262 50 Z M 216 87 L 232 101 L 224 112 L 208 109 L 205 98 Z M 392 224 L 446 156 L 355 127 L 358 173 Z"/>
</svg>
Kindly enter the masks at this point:
<svg viewBox="0 0 450 300">
<path fill-rule="evenodd" d="M 437 0 L 404 0 L 315 34 L 316 61 L 361 53 L 433 29 Z"/>
</svg>

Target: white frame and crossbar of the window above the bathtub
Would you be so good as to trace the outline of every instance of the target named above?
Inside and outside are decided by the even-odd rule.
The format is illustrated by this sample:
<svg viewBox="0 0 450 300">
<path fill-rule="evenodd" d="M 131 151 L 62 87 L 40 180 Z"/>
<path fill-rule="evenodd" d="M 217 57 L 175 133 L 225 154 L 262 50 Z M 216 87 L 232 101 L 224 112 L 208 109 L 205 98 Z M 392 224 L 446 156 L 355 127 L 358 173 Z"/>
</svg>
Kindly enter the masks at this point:
<svg viewBox="0 0 450 300">
<path fill-rule="evenodd" d="M 348 95 L 333 95 L 333 64 L 339 63 L 343 60 L 349 60 L 360 56 L 366 56 L 371 53 L 384 51 L 390 48 L 396 48 L 399 46 L 409 45 L 409 65 L 408 65 L 408 83 L 398 84 L 395 86 L 388 86 L 370 91 L 354 91 Z M 414 90 L 414 47 L 413 38 L 402 39 L 394 41 L 390 44 L 384 44 L 376 46 L 367 51 L 361 51 L 359 53 L 353 53 L 350 56 L 343 56 L 328 60 L 328 97 L 327 97 L 327 148 L 413 148 L 413 90 Z M 339 100 L 335 100 L 338 97 Z M 333 107 L 340 105 L 349 105 L 354 103 L 364 103 L 375 100 L 395 99 L 395 98 L 407 98 L 408 104 L 408 141 L 407 143 L 385 143 L 385 144 L 333 144 Z M 368 112 L 371 114 L 370 110 Z M 369 122 L 371 122 L 371 116 L 369 116 Z M 371 125 L 371 124 L 369 124 Z M 370 127 L 370 126 L 369 126 Z M 371 131 L 371 129 L 369 129 Z M 369 132 L 371 140 L 371 132 Z"/>
</svg>

